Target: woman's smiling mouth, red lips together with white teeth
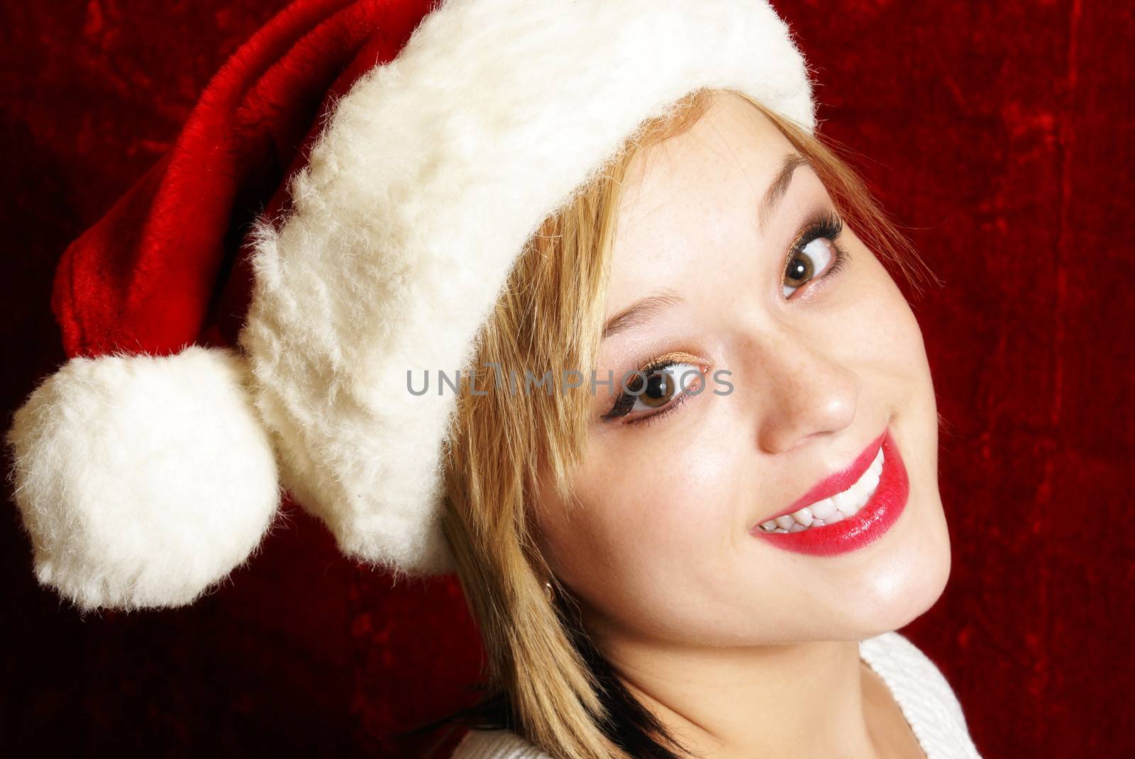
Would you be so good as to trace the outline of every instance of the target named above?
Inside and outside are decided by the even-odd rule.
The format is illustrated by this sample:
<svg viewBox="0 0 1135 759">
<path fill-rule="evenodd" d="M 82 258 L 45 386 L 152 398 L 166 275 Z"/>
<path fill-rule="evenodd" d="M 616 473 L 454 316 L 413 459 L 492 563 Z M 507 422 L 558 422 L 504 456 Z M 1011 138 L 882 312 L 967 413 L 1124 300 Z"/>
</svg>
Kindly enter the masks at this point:
<svg viewBox="0 0 1135 759">
<path fill-rule="evenodd" d="M 876 459 L 880 461 L 873 466 Z M 876 473 L 877 484 L 874 483 Z M 868 490 L 873 492 L 866 503 L 861 503 Z M 775 532 L 757 524 L 751 533 L 779 548 L 799 554 L 843 554 L 882 537 L 902 513 L 908 494 L 907 470 L 888 430 L 846 470 L 825 478 L 787 509 L 762 522 L 770 526 L 775 523 Z M 838 505 L 839 509 L 833 505 Z M 816 515 L 812 514 L 813 506 L 816 507 Z M 854 513 L 846 516 L 844 511 Z M 817 524 L 818 515 L 826 515 L 827 520 Z M 807 529 L 804 528 L 805 522 L 809 523 Z M 788 532 L 785 528 L 792 531 Z"/>
</svg>

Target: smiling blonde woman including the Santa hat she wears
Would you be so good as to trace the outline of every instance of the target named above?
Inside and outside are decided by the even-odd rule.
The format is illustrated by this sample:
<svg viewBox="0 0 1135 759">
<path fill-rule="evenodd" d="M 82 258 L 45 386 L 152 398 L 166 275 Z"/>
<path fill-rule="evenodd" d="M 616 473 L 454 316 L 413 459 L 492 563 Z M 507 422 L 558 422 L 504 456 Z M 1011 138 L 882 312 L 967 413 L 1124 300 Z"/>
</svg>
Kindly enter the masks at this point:
<svg viewBox="0 0 1135 759">
<path fill-rule="evenodd" d="M 758 0 L 294 5 L 60 264 L 39 577 L 190 602 L 283 487 L 457 573 L 457 757 L 976 756 L 892 632 L 950 565 L 919 264 L 814 126 Z"/>
</svg>

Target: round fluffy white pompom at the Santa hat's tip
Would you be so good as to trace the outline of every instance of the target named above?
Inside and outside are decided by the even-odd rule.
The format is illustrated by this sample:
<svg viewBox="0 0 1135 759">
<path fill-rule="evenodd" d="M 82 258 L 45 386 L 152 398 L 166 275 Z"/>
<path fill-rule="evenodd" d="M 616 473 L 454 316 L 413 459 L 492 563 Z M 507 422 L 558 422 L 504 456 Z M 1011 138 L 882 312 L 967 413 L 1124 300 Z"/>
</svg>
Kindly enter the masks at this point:
<svg viewBox="0 0 1135 759">
<path fill-rule="evenodd" d="M 16 412 L 35 574 L 83 609 L 179 606 L 243 563 L 279 503 L 243 357 L 75 357 Z"/>
</svg>

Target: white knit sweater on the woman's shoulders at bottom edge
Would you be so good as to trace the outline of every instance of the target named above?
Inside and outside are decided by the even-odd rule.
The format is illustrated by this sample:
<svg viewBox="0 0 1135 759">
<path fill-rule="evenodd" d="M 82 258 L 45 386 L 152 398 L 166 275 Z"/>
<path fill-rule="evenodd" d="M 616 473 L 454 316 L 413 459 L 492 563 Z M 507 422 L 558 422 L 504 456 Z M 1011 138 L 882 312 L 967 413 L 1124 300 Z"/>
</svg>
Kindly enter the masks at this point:
<svg viewBox="0 0 1135 759">
<path fill-rule="evenodd" d="M 926 759 L 981 759 L 966 727 L 961 705 L 926 655 L 896 632 L 859 642 L 859 658 L 886 683 L 922 745 Z M 453 759 L 550 759 L 504 730 L 471 731 Z"/>
</svg>

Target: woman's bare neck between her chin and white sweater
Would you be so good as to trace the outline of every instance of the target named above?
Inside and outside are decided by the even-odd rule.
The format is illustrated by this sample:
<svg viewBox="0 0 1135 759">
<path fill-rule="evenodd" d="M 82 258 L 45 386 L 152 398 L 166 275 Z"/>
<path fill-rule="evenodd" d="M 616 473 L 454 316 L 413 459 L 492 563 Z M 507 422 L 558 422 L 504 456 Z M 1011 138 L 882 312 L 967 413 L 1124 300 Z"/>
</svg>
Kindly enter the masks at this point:
<svg viewBox="0 0 1135 759">
<path fill-rule="evenodd" d="M 628 690 L 706 759 L 899 756 L 871 724 L 883 700 L 855 641 L 675 648 L 608 634 L 596 643 Z"/>
</svg>

